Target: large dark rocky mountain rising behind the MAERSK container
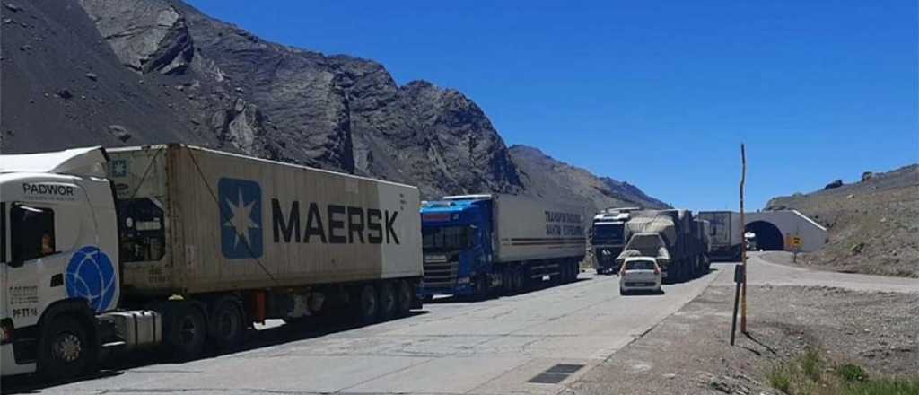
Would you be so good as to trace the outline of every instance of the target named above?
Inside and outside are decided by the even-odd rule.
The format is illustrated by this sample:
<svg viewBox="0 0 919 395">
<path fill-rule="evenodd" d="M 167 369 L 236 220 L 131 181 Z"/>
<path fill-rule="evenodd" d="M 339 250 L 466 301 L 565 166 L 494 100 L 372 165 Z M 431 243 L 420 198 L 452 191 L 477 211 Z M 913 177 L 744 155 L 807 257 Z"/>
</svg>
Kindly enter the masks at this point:
<svg viewBox="0 0 919 395">
<path fill-rule="evenodd" d="M 181 141 L 425 197 L 545 190 L 469 97 L 397 85 L 377 62 L 268 42 L 177 0 L 19 0 L 0 14 L 0 152 Z"/>
</svg>

